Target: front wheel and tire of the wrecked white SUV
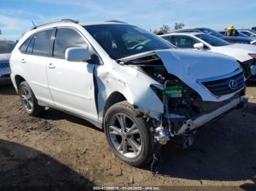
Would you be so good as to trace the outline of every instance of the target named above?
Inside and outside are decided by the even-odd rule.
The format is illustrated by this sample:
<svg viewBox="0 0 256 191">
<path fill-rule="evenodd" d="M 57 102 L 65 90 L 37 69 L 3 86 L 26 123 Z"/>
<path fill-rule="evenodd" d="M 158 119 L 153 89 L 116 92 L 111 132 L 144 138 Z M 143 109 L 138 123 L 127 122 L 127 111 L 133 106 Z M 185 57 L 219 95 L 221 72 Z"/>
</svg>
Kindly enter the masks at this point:
<svg viewBox="0 0 256 191">
<path fill-rule="evenodd" d="M 140 112 L 127 101 L 113 106 L 105 114 L 105 135 L 114 154 L 125 163 L 141 166 L 152 158 L 154 141 Z"/>
</svg>

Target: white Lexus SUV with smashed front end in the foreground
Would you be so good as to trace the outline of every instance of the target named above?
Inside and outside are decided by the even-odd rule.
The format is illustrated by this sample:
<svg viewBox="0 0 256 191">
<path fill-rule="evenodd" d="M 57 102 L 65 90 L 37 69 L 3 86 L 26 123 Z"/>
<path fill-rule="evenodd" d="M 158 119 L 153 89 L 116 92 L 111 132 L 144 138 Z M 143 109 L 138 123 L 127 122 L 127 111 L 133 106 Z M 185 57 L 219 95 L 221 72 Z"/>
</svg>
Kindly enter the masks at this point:
<svg viewBox="0 0 256 191">
<path fill-rule="evenodd" d="M 173 136 L 192 143 L 206 122 L 243 106 L 244 75 L 230 57 L 176 50 L 126 23 L 59 20 L 28 31 L 10 58 L 12 82 L 31 116 L 45 106 L 105 131 L 131 165 Z"/>
</svg>

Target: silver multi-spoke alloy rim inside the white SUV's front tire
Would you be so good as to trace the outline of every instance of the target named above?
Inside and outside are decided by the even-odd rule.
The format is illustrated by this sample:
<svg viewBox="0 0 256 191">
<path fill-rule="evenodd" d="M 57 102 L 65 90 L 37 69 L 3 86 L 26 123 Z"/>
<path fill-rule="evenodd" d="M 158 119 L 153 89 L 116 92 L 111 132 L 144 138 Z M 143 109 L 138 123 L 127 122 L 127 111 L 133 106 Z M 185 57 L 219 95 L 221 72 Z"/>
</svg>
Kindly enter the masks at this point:
<svg viewBox="0 0 256 191">
<path fill-rule="evenodd" d="M 110 119 L 109 133 L 113 146 L 121 155 L 134 158 L 140 154 L 143 146 L 140 131 L 126 114 L 118 113 Z"/>
</svg>

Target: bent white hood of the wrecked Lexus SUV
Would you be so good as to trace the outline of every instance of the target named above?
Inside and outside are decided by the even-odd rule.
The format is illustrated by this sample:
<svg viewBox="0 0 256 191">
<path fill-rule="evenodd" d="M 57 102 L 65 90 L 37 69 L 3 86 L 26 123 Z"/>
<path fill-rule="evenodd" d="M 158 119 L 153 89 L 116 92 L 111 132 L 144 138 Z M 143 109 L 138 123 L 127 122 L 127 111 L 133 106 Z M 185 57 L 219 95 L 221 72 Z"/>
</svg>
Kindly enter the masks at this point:
<svg viewBox="0 0 256 191">
<path fill-rule="evenodd" d="M 192 87 L 199 93 L 203 101 L 224 101 L 231 97 L 231 95 L 225 95 L 217 98 L 198 82 L 199 79 L 220 77 L 238 69 L 238 62 L 226 55 L 197 50 L 169 49 L 144 52 L 122 58 L 119 61 L 131 61 L 154 54 L 161 58 L 170 74 L 175 75 L 189 87 Z"/>
</svg>

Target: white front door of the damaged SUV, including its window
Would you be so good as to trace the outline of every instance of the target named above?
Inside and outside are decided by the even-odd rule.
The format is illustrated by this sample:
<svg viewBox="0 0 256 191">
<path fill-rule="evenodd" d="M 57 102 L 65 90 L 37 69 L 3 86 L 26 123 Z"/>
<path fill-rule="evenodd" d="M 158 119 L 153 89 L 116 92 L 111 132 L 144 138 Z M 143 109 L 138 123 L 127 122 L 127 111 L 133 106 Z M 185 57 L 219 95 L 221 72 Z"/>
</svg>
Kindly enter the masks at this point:
<svg viewBox="0 0 256 191">
<path fill-rule="evenodd" d="M 53 57 L 48 58 L 48 85 L 59 108 L 97 120 L 94 95 L 94 63 L 65 60 L 69 47 L 89 47 L 86 39 L 73 28 L 57 28 Z"/>
</svg>

